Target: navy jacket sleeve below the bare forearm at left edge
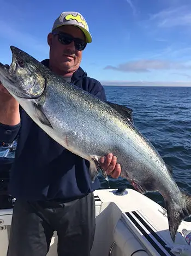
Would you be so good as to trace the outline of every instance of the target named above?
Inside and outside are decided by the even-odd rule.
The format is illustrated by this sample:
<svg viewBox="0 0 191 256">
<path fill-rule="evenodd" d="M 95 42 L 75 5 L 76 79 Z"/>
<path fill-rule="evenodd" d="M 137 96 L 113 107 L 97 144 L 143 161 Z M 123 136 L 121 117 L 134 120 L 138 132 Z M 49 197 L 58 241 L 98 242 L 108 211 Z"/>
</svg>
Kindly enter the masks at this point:
<svg viewBox="0 0 191 256">
<path fill-rule="evenodd" d="M 0 123 L 0 143 L 12 143 L 19 133 L 21 122 L 16 126 L 7 126 Z"/>
</svg>

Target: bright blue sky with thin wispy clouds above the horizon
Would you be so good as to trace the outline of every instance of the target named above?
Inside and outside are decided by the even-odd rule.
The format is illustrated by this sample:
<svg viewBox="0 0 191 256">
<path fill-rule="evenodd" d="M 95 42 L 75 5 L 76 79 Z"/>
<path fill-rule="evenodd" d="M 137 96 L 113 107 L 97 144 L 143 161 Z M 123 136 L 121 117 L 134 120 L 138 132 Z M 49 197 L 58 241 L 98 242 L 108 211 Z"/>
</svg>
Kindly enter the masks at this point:
<svg viewBox="0 0 191 256">
<path fill-rule="evenodd" d="M 55 4 L 53 4 L 55 2 Z M 47 33 L 64 11 L 85 16 L 93 41 L 81 67 L 104 84 L 186 84 L 191 79 L 190 0 L 0 0 L 0 62 L 10 45 L 49 58 Z"/>
</svg>

